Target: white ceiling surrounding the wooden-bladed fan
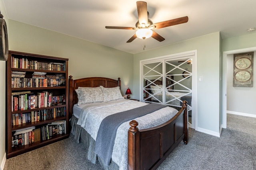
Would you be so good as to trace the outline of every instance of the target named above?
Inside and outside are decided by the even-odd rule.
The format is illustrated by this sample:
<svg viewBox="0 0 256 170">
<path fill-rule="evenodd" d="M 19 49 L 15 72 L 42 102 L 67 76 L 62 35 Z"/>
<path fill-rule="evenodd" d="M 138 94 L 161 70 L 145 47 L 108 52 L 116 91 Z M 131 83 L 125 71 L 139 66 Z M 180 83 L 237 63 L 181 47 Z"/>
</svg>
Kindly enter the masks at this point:
<svg viewBox="0 0 256 170">
<path fill-rule="evenodd" d="M 7 18 L 66 35 L 139 53 L 168 44 L 220 31 L 222 39 L 250 34 L 256 27 L 256 0 L 147 0 L 148 18 L 157 23 L 188 16 L 188 22 L 155 31 L 165 38 L 136 38 L 135 30 L 105 26 L 135 27 L 136 0 L 3 0 Z M 4 16 L 5 18 L 6 16 Z"/>
</svg>

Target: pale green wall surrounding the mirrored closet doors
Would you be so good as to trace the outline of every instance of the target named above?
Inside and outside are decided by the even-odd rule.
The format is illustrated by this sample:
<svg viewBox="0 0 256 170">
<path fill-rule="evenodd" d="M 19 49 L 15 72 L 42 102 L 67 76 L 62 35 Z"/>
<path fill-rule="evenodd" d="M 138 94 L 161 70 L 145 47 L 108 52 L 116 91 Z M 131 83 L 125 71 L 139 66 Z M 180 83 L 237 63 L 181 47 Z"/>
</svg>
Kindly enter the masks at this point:
<svg viewBox="0 0 256 170">
<path fill-rule="evenodd" d="M 134 55 L 134 98 L 139 99 L 140 60 L 164 55 L 198 51 L 198 76 L 204 81 L 198 81 L 198 128 L 219 132 L 219 75 L 220 75 L 220 33 L 211 33 L 194 39 L 167 45 L 157 49 L 144 51 Z"/>
</svg>

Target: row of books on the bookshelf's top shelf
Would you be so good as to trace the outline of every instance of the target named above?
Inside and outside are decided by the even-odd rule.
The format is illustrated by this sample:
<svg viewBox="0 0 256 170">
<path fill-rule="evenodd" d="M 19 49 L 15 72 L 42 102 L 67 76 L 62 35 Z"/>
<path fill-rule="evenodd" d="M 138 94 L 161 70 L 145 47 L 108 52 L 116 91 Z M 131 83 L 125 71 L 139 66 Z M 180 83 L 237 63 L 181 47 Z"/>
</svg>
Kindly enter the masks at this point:
<svg viewBox="0 0 256 170">
<path fill-rule="evenodd" d="M 12 68 L 65 71 L 66 64 L 65 63 L 39 62 L 39 61 L 29 60 L 27 58 L 12 57 Z"/>
</svg>

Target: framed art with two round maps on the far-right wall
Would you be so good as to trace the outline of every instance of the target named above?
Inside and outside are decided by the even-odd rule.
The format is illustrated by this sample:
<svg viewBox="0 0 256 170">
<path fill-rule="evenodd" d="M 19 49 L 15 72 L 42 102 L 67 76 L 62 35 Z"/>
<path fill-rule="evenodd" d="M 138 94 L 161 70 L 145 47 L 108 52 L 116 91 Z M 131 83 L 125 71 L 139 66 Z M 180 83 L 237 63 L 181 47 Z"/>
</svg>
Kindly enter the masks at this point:
<svg viewBox="0 0 256 170">
<path fill-rule="evenodd" d="M 253 87 L 254 52 L 234 54 L 234 87 Z"/>
</svg>

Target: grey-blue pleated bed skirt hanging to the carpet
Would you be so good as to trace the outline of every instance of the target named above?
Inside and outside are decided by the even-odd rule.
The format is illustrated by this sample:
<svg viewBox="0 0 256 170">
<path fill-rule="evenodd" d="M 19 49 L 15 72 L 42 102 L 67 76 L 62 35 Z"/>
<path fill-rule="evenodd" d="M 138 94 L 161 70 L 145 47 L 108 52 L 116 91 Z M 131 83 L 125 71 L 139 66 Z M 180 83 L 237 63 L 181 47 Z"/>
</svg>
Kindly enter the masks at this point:
<svg viewBox="0 0 256 170">
<path fill-rule="evenodd" d="M 86 147 L 86 159 L 95 164 L 98 162 L 101 164 L 104 170 L 119 170 L 119 166 L 111 161 L 109 166 L 105 166 L 103 160 L 94 153 L 95 141 L 92 137 L 82 128 L 80 125 L 77 125 L 78 118 L 72 115 L 70 119 L 71 124 L 71 133 L 74 135 L 74 139 L 77 143 L 82 143 Z"/>
</svg>

